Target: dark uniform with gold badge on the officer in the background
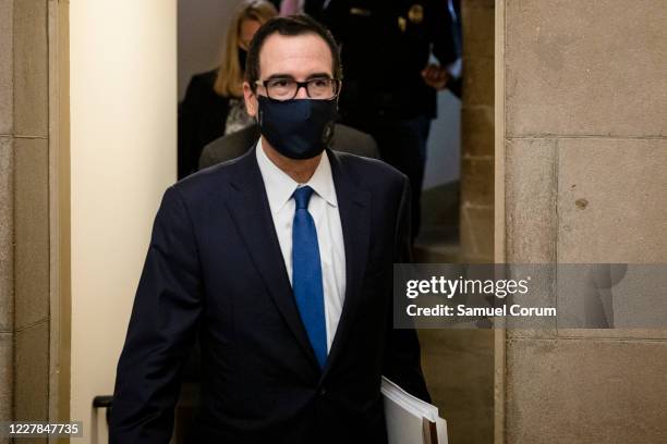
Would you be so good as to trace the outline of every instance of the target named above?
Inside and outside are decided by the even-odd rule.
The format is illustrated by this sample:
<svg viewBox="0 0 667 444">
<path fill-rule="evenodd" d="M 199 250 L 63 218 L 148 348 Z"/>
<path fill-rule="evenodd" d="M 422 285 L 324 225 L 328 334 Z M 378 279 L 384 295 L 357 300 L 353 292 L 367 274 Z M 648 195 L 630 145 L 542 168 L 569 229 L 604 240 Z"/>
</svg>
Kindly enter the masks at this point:
<svg viewBox="0 0 667 444">
<path fill-rule="evenodd" d="M 413 234 L 436 90 L 421 72 L 430 52 L 440 65 L 457 58 L 448 0 L 311 0 L 305 12 L 331 29 L 344 70 L 342 123 L 375 137 L 381 158 L 410 177 Z"/>
</svg>

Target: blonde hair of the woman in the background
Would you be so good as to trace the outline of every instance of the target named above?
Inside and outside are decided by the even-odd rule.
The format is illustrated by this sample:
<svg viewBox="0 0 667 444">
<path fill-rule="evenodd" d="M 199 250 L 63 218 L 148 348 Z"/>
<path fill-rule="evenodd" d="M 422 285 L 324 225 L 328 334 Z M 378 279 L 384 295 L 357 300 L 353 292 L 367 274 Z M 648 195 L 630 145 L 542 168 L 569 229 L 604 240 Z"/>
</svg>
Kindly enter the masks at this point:
<svg viewBox="0 0 667 444">
<path fill-rule="evenodd" d="M 253 20 L 260 25 L 278 15 L 276 8 L 265 0 L 245 0 L 237 9 L 234 18 L 227 29 L 222 63 L 218 69 L 218 76 L 214 90 L 222 97 L 243 96 L 243 70 L 239 63 L 239 34 L 241 25 L 246 20 Z"/>
</svg>

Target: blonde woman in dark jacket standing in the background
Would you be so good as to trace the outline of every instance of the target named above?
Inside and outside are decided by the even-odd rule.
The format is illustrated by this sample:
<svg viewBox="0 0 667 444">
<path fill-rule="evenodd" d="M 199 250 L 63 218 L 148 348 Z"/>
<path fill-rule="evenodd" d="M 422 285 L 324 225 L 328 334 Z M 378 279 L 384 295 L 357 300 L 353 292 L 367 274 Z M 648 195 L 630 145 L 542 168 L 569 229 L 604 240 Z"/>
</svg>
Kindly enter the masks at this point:
<svg viewBox="0 0 667 444">
<path fill-rule="evenodd" d="M 243 101 L 246 51 L 259 26 L 276 15 L 268 1 L 243 1 L 227 30 L 220 66 L 191 78 L 179 106 L 179 180 L 197 171 L 202 149 L 209 141 L 253 123 Z"/>
</svg>

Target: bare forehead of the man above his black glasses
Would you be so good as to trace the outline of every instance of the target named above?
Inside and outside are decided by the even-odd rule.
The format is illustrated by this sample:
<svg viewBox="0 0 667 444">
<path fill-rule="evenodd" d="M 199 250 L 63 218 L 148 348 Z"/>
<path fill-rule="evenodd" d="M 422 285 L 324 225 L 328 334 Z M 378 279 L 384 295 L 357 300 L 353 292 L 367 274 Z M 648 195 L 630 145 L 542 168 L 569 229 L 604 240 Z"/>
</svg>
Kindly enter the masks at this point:
<svg viewBox="0 0 667 444">
<path fill-rule="evenodd" d="M 259 52 L 262 77 L 276 73 L 294 77 L 307 76 L 313 72 L 332 74 L 333 60 L 327 42 L 317 34 L 299 36 L 270 35 Z"/>
</svg>

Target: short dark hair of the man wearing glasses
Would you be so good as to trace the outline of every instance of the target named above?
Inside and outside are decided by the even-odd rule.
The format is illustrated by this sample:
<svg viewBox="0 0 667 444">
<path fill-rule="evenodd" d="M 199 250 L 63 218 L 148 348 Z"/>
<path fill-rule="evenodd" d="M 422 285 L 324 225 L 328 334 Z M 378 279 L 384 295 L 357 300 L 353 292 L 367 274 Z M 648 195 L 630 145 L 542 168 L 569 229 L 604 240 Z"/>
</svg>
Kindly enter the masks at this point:
<svg viewBox="0 0 667 444">
<path fill-rule="evenodd" d="M 259 51 L 264 42 L 269 36 L 280 34 L 281 36 L 301 36 L 305 34 L 314 34 L 322 37 L 331 50 L 331 59 L 333 60 L 333 77 L 342 79 L 342 63 L 340 61 L 340 52 L 333 36 L 323 25 L 307 15 L 290 15 L 287 17 L 274 17 L 266 22 L 251 42 L 247 51 L 247 60 L 245 63 L 245 79 L 250 83 L 253 91 L 256 88 L 255 82 L 259 79 Z"/>
</svg>

